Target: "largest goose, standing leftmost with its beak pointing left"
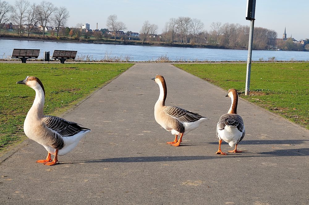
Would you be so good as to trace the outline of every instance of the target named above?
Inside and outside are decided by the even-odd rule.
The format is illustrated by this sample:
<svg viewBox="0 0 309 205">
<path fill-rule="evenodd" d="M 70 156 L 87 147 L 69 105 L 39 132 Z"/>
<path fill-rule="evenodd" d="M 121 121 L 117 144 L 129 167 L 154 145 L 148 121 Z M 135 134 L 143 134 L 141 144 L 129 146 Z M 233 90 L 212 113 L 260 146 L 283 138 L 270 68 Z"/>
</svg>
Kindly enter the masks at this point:
<svg viewBox="0 0 309 205">
<path fill-rule="evenodd" d="M 79 140 L 91 130 L 60 117 L 44 115 L 45 90 L 39 78 L 27 76 L 17 83 L 27 85 L 36 91 L 36 97 L 23 124 L 26 136 L 43 145 L 48 152 L 46 160 L 37 160 L 36 162 L 54 165 L 58 161 L 58 155 L 69 153 L 77 146 Z M 54 155 L 53 161 L 51 154 Z"/>
</svg>

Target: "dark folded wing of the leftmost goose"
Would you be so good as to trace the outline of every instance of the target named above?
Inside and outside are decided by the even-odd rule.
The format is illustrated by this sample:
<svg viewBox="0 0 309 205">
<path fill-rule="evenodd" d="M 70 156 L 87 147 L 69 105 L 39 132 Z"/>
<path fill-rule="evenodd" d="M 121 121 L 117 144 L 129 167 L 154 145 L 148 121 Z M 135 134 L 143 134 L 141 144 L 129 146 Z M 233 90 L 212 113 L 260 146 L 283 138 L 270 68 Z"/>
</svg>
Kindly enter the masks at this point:
<svg viewBox="0 0 309 205">
<path fill-rule="evenodd" d="M 67 121 L 60 117 L 46 115 L 43 119 L 45 125 L 63 137 L 76 135 L 87 128 L 80 127 L 77 123 Z"/>
</svg>

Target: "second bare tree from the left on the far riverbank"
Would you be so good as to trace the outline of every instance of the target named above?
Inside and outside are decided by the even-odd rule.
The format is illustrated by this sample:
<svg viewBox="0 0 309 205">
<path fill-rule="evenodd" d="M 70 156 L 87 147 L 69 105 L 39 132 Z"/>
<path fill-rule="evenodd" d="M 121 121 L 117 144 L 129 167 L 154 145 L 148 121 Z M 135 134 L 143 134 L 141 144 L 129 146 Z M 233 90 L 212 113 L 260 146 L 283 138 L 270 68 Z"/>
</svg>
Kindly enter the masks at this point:
<svg viewBox="0 0 309 205">
<path fill-rule="evenodd" d="M 19 35 L 22 35 L 23 23 L 26 20 L 27 10 L 30 6 L 30 2 L 27 0 L 16 0 L 15 1 L 15 22 L 19 25 Z"/>
</svg>

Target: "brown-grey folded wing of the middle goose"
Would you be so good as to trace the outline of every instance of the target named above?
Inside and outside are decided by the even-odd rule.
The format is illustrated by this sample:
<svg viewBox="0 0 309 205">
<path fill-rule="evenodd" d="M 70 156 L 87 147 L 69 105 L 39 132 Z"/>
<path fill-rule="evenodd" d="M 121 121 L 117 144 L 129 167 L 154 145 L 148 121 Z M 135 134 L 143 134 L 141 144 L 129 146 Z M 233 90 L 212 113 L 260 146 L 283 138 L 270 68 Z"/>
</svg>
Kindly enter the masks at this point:
<svg viewBox="0 0 309 205">
<path fill-rule="evenodd" d="M 170 115 L 171 117 L 174 117 L 178 119 L 180 122 L 183 123 L 191 123 L 195 122 L 201 118 L 205 118 L 197 113 L 187 111 L 185 109 L 182 109 L 180 107 L 175 107 L 175 106 L 167 106 L 164 108 L 164 112 L 167 115 Z"/>
</svg>

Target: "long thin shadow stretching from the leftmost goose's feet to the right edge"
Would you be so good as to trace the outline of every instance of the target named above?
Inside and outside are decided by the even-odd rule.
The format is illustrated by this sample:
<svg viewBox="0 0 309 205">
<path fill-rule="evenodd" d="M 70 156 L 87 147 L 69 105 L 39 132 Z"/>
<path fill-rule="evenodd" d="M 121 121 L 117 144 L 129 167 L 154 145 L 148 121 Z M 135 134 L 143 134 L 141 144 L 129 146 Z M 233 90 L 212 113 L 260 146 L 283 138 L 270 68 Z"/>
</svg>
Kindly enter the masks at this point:
<svg viewBox="0 0 309 205">
<path fill-rule="evenodd" d="M 214 154 L 213 156 L 160 156 L 160 157 L 115 157 L 106 159 L 89 159 L 77 161 L 61 161 L 59 164 L 78 164 L 78 163 L 103 163 L 103 162 L 118 162 L 118 163 L 132 163 L 132 162 L 165 162 L 165 161 L 193 161 L 193 160 L 224 160 L 231 157 L 302 157 L 309 156 L 309 148 L 301 149 L 278 149 L 270 152 L 243 152 L 243 153 L 229 153 L 227 156 Z"/>
</svg>

